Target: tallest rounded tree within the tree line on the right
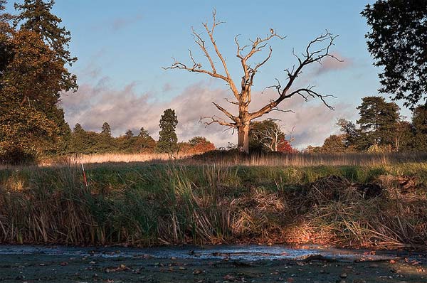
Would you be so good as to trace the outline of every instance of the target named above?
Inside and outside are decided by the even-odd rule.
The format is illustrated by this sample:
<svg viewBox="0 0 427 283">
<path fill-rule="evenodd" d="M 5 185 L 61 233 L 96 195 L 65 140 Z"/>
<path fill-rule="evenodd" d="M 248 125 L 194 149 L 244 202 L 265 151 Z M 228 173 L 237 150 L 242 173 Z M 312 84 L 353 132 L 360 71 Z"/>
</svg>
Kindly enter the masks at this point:
<svg viewBox="0 0 427 283">
<path fill-rule="evenodd" d="M 386 102 L 384 97 L 364 97 L 357 107 L 360 118 L 362 149 L 369 146 L 392 145 L 394 140 L 390 132 L 394 131 L 399 122 L 399 107 L 394 102 Z"/>
</svg>

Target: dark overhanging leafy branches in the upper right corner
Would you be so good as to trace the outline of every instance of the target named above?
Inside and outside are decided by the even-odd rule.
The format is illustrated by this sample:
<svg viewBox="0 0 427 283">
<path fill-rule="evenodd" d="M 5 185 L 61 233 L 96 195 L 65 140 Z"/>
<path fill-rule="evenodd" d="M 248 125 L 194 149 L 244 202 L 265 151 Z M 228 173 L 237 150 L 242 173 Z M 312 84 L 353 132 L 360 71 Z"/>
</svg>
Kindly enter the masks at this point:
<svg viewBox="0 0 427 283">
<path fill-rule="evenodd" d="M 371 26 L 368 50 L 384 70 L 379 91 L 414 107 L 427 95 L 427 2 L 378 0 L 362 16 Z"/>
</svg>

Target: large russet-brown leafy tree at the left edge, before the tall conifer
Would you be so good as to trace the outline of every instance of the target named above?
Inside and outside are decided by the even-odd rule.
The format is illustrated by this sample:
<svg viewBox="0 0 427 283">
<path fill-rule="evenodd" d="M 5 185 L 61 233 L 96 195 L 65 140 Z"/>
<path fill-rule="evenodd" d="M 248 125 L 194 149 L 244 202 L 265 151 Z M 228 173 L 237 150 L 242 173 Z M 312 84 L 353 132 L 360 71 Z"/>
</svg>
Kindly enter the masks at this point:
<svg viewBox="0 0 427 283">
<path fill-rule="evenodd" d="M 54 93 L 61 91 L 65 68 L 36 33 L 14 31 L 9 44 L 13 57 L 0 82 L 0 142 L 8 145 L 3 151 L 13 151 L 14 159 L 18 152 L 36 156 L 61 151 L 69 127 Z"/>
</svg>

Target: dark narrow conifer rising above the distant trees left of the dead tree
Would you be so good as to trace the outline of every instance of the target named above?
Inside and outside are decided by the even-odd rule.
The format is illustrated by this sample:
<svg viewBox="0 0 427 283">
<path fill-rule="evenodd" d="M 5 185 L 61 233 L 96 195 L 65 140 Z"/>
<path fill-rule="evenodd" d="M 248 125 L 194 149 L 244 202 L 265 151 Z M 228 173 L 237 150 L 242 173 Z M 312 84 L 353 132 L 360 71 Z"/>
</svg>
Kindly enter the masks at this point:
<svg viewBox="0 0 427 283">
<path fill-rule="evenodd" d="M 178 119 L 175 110 L 164 110 L 159 121 L 159 142 L 157 142 L 157 150 L 159 152 L 167 152 L 173 154 L 177 150 L 178 138 L 176 137 L 175 128 L 178 124 Z"/>
</svg>

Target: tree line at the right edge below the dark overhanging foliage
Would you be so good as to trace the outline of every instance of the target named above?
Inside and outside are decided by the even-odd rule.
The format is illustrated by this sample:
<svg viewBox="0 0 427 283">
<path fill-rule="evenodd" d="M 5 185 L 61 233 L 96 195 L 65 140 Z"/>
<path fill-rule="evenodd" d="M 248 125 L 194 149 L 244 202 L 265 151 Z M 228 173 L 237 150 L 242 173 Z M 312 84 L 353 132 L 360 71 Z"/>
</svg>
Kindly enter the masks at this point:
<svg viewBox="0 0 427 283">
<path fill-rule="evenodd" d="M 357 107 L 359 119 L 339 119 L 341 134 L 333 134 L 322 146 L 309 146 L 309 152 L 410 152 L 427 151 L 427 107 L 413 108 L 411 121 L 400 114 L 394 102 L 384 97 L 364 97 Z"/>
</svg>

